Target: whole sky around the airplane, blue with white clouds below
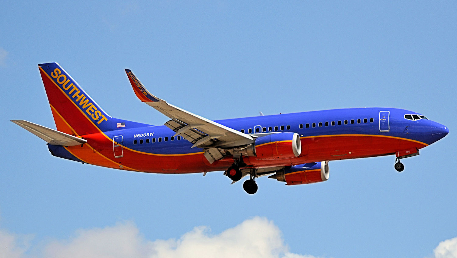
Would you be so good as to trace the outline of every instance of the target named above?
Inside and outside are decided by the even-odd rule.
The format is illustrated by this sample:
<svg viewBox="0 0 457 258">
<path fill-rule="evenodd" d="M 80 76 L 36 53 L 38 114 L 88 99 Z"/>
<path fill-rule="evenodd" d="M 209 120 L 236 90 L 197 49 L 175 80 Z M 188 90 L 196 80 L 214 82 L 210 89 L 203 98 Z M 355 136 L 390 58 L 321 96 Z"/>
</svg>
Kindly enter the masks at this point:
<svg viewBox="0 0 457 258">
<path fill-rule="evenodd" d="M 122 257 L 123 243 L 133 250 L 124 256 L 137 257 L 254 247 L 266 253 L 251 257 L 457 255 L 456 13 L 454 1 L 6 1 L 0 256 Z M 222 172 L 123 172 L 51 156 L 9 121 L 55 128 L 37 68 L 45 62 L 110 115 L 148 124 L 167 118 L 138 101 L 124 68 L 210 119 L 392 107 L 450 134 L 405 159 L 403 173 L 393 156 L 332 161 L 327 182 L 262 177 L 249 196 Z"/>
</svg>

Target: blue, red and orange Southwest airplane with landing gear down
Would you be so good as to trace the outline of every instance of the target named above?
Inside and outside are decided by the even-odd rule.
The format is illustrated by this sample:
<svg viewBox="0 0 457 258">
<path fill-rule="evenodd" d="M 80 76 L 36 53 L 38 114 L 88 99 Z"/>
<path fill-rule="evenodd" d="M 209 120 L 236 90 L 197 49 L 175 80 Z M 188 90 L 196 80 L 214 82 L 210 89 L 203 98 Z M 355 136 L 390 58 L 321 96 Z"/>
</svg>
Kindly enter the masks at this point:
<svg viewBox="0 0 457 258">
<path fill-rule="evenodd" d="M 143 124 L 109 116 L 58 63 L 38 65 L 55 129 L 11 120 L 45 140 L 53 156 L 149 173 L 224 171 L 257 192 L 256 178 L 287 185 L 329 179 L 329 161 L 395 155 L 400 159 L 449 133 L 424 115 L 398 108 L 345 108 L 211 121 L 152 95 L 125 69 L 133 92 L 170 120 Z"/>
</svg>

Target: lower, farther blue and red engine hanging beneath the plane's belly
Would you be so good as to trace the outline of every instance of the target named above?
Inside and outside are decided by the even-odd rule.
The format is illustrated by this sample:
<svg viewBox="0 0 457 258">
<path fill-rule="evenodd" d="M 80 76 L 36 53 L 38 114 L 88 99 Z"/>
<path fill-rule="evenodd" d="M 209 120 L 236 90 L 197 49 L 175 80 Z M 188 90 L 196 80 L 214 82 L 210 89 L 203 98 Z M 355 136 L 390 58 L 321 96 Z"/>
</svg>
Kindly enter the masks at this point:
<svg viewBox="0 0 457 258">
<path fill-rule="evenodd" d="M 324 182 L 329 179 L 329 161 L 305 163 L 285 168 L 269 176 L 287 185 Z"/>
</svg>

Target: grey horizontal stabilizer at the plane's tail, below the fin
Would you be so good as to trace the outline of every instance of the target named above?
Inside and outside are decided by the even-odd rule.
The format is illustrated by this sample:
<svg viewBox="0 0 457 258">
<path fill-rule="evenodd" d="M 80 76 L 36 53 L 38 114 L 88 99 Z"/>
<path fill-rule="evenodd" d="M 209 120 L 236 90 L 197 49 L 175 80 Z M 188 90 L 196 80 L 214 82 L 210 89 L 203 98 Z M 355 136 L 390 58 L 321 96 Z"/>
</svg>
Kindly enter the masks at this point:
<svg viewBox="0 0 457 258">
<path fill-rule="evenodd" d="M 37 135 L 41 139 L 45 140 L 51 145 L 62 145 L 62 146 L 75 146 L 81 145 L 87 142 L 87 140 L 78 138 L 76 136 L 65 134 L 54 129 L 44 127 L 39 124 L 33 124 L 26 120 L 11 120 L 14 124 L 19 125 L 23 129 Z"/>
</svg>

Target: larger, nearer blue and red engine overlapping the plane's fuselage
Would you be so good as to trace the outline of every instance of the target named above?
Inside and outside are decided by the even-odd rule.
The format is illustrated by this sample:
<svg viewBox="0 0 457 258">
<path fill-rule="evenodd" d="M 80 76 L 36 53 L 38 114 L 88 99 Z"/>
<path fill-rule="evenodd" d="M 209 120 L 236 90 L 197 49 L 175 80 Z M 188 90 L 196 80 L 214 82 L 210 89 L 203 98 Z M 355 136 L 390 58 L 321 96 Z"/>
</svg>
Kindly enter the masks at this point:
<svg viewBox="0 0 457 258">
<path fill-rule="evenodd" d="M 289 159 L 298 157 L 302 143 L 297 133 L 270 134 L 255 139 L 254 154 L 259 159 Z"/>
</svg>

